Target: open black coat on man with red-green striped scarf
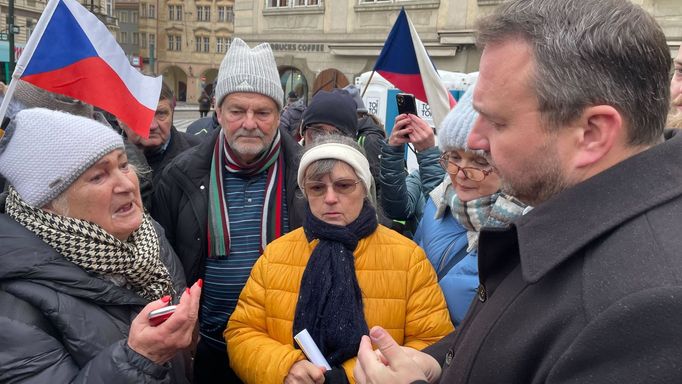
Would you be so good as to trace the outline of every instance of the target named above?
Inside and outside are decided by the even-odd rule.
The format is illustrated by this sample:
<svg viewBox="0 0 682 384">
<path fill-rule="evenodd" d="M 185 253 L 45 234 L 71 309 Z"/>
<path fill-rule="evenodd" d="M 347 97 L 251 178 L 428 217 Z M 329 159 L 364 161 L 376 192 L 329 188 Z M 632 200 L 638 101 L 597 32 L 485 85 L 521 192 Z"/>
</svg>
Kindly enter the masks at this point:
<svg viewBox="0 0 682 384">
<path fill-rule="evenodd" d="M 154 187 L 152 216 L 166 230 L 166 237 L 182 262 L 187 281 L 196 281 L 204 275 L 208 253 L 209 173 L 219 132 L 213 131 L 200 145 L 176 158 Z M 286 168 L 289 229 L 294 230 L 303 223 L 306 204 L 296 181 L 300 146 L 286 132 L 280 131 L 280 135 Z"/>
</svg>

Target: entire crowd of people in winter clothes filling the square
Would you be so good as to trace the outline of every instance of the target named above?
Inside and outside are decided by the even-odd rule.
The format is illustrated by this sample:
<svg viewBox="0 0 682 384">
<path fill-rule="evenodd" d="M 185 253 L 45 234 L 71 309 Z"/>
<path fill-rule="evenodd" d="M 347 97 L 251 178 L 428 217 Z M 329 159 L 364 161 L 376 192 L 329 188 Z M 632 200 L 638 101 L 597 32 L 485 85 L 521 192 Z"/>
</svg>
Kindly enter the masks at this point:
<svg viewBox="0 0 682 384">
<path fill-rule="evenodd" d="M 682 49 L 628 0 L 476 32 L 437 137 L 355 86 L 285 98 L 239 38 L 187 132 L 165 85 L 145 138 L 18 80 L 0 382 L 681 381 Z"/>
</svg>

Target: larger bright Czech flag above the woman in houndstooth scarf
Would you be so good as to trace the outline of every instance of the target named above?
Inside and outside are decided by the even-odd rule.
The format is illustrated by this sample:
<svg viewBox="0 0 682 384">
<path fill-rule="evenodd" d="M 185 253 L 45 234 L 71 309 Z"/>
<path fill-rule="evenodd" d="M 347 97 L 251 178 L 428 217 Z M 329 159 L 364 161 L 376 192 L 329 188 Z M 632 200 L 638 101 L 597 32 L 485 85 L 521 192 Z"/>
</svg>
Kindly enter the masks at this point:
<svg viewBox="0 0 682 384">
<path fill-rule="evenodd" d="M 75 0 L 50 0 L 15 76 L 102 108 L 149 137 L 161 77 L 133 68 L 107 27 Z"/>
</svg>

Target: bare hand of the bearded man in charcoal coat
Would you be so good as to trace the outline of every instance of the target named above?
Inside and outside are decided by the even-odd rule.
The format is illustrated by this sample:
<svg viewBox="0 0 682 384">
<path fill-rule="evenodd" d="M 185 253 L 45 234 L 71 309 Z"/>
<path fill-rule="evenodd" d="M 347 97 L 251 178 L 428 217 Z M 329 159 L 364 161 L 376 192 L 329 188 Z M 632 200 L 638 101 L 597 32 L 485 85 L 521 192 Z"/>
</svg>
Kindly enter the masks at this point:
<svg viewBox="0 0 682 384">
<path fill-rule="evenodd" d="M 363 336 L 358 350 L 358 362 L 353 370 L 359 384 L 398 383 L 408 384 L 418 380 L 435 382 L 440 378 L 440 366 L 431 356 L 403 348 L 381 327 Z M 379 347 L 372 350 L 372 342 Z"/>
</svg>

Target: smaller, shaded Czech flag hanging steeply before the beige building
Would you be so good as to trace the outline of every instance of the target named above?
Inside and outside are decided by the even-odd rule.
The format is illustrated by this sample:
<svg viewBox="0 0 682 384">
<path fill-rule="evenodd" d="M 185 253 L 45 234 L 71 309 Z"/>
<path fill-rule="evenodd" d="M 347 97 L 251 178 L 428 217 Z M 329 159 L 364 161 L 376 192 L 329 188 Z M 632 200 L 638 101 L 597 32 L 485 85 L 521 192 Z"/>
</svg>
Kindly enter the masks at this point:
<svg viewBox="0 0 682 384">
<path fill-rule="evenodd" d="M 427 103 L 436 127 L 455 106 L 455 98 L 438 76 L 405 8 L 388 34 L 374 70 L 396 88 Z"/>
</svg>

